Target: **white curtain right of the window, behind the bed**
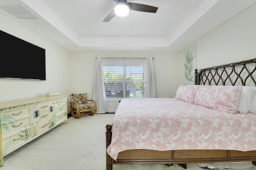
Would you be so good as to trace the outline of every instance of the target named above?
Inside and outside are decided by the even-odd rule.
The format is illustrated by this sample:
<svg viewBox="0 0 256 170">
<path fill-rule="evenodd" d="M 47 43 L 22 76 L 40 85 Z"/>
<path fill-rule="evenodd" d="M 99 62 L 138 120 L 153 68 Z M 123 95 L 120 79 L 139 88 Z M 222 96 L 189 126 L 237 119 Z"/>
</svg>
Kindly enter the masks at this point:
<svg viewBox="0 0 256 170">
<path fill-rule="evenodd" d="M 156 83 L 152 57 L 146 57 L 146 83 L 144 98 L 156 98 Z"/>
</svg>

